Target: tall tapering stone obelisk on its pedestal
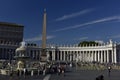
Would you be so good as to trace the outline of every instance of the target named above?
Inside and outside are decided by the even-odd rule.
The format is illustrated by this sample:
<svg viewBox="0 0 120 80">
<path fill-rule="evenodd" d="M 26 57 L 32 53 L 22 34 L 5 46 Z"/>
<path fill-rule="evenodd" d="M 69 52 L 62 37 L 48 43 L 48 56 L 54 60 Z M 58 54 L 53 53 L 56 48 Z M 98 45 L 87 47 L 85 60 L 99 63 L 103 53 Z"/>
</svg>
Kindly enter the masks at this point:
<svg viewBox="0 0 120 80">
<path fill-rule="evenodd" d="M 46 54 L 46 9 L 44 9 L 43 15 L 43 29 L 42 29 L 42 50 L 41 50 L 41 61 L 47 61 L 47 54 Z"/>
</svg>

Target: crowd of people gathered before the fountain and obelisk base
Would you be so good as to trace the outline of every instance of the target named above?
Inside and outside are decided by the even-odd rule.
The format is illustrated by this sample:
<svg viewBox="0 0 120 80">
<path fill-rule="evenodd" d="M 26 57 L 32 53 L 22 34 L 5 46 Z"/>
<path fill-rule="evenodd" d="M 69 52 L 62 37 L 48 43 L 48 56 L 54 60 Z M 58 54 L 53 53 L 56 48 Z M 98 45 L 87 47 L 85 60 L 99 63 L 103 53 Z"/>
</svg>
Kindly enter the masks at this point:
<svg viewBox="0 0 120 80">
<path fill-rule="evenodd" d="M 37 66 L 37 67 L 34 67 Z M 23 68 L 23 69 L 17 69 L 16 71 L 11 71 L 10 76 L 13 74 L 16 74 L 17 76 L 27 76 L 27 75 L 46 75 L 48 73 L 50 74 L 63 74 L 65 75 L 66 71 L 66 66 L 67 64 L 61 64 L 61 63 L 55 63 L 55 64 L 44 64 L 44 65 L 39 65 L 38 64 L 33 64 L 33 68 Z"/>
</svg>

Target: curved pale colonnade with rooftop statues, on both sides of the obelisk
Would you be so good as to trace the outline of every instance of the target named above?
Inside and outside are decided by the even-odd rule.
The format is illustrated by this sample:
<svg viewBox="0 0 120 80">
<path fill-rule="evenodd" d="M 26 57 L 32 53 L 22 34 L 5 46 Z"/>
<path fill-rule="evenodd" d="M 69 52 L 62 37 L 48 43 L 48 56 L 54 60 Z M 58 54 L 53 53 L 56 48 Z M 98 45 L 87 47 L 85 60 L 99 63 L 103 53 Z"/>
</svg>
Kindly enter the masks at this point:
<svg viewBox="0 0 120 80">
<path fill-rule="evenodd" d="M 28 54 L 31 59 L 40 60 L 41 47 L 29 46 Z M 108 43 L 91 46 L 48 46 L 47 58 L 49 61 L 79 61 L 98 63 L 119 63 L 120 45 Z"/>
</svg>

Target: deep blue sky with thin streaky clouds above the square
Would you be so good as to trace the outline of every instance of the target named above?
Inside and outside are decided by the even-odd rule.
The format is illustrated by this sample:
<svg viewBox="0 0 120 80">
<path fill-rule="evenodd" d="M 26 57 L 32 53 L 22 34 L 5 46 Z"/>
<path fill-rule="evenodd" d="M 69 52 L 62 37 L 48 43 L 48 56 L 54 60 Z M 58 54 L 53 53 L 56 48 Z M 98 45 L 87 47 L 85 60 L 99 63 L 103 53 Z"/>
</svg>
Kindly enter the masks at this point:
<svg viewBox="0 0 120 80">
<path fill-rule="evenodd" d="M 24 25 L 24 39 L 41 43 L 44 8 L 48 44 L 120 42 L 120 0 L 0 0 L 0 21 Z"/>
</svg>

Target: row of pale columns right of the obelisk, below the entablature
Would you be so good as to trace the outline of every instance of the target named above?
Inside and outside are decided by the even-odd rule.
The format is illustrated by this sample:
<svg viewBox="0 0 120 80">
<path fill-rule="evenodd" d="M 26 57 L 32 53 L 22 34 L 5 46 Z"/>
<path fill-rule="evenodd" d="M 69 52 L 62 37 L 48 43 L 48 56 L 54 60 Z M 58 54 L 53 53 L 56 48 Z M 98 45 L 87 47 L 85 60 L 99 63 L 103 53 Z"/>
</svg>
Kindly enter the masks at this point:
<svg viewBox="0 0 120 80">
<path fill-rule="evenodd" d="M 81 62 L 100 62 L 116 63 L 116 51 L 114 50 L 53 50 L 52 60 L 55 61 L 81 61 Z"/>
</svg>

